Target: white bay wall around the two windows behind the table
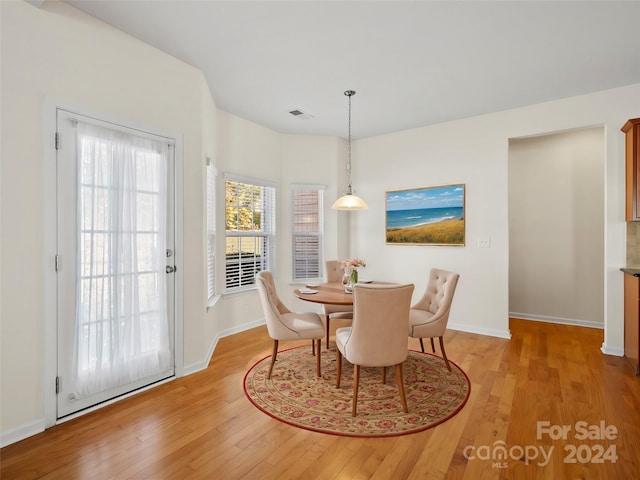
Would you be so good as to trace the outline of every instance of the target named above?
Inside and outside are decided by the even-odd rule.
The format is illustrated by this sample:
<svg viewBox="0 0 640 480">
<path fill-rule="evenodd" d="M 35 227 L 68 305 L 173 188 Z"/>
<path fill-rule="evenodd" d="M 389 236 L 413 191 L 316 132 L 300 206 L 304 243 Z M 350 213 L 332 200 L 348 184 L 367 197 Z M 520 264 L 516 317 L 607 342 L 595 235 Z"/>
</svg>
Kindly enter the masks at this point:
<svg viewBox="0 0 640 480">
<path fill-rule="evenodd" d="M 325 258 L 337 258 L 340 244 L 338 213 L 329 207 L 337 197 L 337 163 L 343 153 L 340 139 L 324 136 L 282 135 L 234 115 L 220 112 L 218 167 L 224 172 L 267 180 L 279 185 L 276 209 L 276 269 L 274 278 L 282 300 L 292 309 L 319 311 L 314 305 L 293 295 L 291 264 L 291 184 L 326 185 Z M 224 202 L 224 178 L 219 182 L 219 204 Z M 224 231 L 224 218 L 218 219 L 218 231 Z M 224 252 L 224 235 L 219 235 L 218 252 Z M 218 270 L 223 291 L 224 270 Z M 218 328 L 232 333 L 263 318 L 256 291 L 223 294 L 218 301 Z"/>
</svg>

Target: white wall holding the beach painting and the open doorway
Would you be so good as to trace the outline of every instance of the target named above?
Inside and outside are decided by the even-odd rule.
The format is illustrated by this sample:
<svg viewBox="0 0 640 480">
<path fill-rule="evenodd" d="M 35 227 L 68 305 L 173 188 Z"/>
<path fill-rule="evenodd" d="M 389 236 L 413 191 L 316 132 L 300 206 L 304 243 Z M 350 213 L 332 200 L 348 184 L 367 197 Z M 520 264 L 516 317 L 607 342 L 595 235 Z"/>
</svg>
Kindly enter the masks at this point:
<svg viewBox="0 0 640 480">
<path fill-rule="evenodd" d="M 638 115 L 640 84 L 526 108 L 497 112 L 359 140 L 354 184 L 369 203 L 352 229 L 352 251 L 365 258 L 367 276 L 416 284 L 437 266 L 460 273 L 450 322 L 467 331 L 508 335 L 509 139 L 603 126 L 605 233 L 603 351 L 621 355 L 625 263 L 624 137 L 620 127 Z M 385 245 L 384 192 L 466 184 L 466 246 Z M 490 237 L 491 247 L 477 246 Z"/>
</svg>

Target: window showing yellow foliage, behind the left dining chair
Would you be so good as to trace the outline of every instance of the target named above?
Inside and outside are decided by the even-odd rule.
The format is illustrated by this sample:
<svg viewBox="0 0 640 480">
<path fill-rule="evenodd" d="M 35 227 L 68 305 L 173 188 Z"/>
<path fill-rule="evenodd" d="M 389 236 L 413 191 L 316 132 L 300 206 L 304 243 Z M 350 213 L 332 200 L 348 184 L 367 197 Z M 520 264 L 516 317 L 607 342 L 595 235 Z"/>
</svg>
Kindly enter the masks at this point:
<svg viewBox="0 0 640 480">
<path fill-rule="evenodd" d="M 255 284 L 255 276 L 275 265 L 273 186 L 254 180 L 225 179 L 226 288 Z"/>
</svg>

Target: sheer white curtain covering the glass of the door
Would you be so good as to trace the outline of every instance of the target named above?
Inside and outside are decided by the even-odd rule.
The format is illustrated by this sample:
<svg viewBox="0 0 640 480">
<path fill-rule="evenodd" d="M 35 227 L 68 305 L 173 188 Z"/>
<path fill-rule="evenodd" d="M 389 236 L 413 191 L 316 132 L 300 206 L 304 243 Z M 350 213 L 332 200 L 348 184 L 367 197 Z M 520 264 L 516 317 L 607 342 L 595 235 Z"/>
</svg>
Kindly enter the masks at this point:
<svg viewBox="0 0 640 480">
<path fill-rule="evenodd" d="M 165 273 L 167 144 L 78 122 L 74 394 L 173 368 Z"/>
</svg>

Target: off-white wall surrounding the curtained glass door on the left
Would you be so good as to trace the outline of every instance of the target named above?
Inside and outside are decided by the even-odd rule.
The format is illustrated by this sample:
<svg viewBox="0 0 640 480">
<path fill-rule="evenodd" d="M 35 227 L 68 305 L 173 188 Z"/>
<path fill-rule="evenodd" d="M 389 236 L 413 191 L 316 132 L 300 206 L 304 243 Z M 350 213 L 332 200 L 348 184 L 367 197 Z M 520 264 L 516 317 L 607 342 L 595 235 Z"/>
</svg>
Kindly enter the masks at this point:
<svg viewBox="0 0 640 480">
<path fill-rule="evenodd" d="M 184 302 L 179 313 L 185 365 L 201 361 L 211 343 L 203 319 L 203 158 L 205 145 L 207 152 L 215 148 L 209 127 L 215 105 L 200 71 L 66 4 L 36 8 L 2 1 L 0 16 L 0 431 L 5 443 L 42 429 L 45 381 L 52 385 L 44 378 L 45 346 L 55 345 L 55 338 L 45 337 L 45 321 L 53 314 L 44 300 L 53 258 L 44 240 L 49 223 L 44 192 L 55 188 L 55 178 L 44 173 L 51 171 L 44 162 L 53 155 L 51 135 L 45 140 L 46 125 L 54 122 L 50 104 L 78 106 L 182 137 Z"/>
</svg>

